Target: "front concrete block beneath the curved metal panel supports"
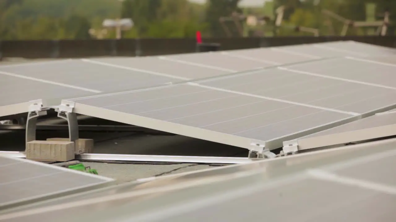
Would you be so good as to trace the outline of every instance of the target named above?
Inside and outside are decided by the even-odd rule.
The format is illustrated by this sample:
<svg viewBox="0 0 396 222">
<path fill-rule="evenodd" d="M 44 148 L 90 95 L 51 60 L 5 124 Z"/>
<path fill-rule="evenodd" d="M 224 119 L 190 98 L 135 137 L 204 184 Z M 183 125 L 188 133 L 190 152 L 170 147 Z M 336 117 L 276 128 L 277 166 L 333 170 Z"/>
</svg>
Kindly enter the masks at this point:
<svg viewBox="0 0 396 222">
<path fill-rule="evenodd" d="M 74 142 L 34 140 L 26 144 L 25 153 L 30 160 L 67 162 L 74 159 Z"/>
</svg>

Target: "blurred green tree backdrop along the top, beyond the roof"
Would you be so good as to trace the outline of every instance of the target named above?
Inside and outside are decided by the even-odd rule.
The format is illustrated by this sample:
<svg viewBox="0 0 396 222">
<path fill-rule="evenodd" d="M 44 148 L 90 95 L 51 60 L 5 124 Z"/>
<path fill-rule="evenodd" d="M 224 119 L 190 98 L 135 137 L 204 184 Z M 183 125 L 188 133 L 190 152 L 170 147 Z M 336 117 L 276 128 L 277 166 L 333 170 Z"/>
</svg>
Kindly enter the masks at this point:
<svg viewBox="0 0 396 222">
<path fill-rule="evenodd" d="M 329 9 L 345 18 L 364 21 L 365 4 L 374 2 L 377 13 L 388 9 L 396 16 L 396 0 L 272 0 L 257 8 L 240 8 L 240 0 L 207 0 L 195 4 L 188 0 L 0 0 L 0 40 L 90 39 L 90 28 L 101 29 L 106 18 L 130 17 L 135 26 L 123 38 L 187 38 L 200 30 L 205 37 L 224 37 L 219 17 L 233 11 L 274 17 L 274 9 L 286 6 L 284 24 L 318 28 L 329 34 L 320 9 Z M 377 19 L 381 19 L 378 17 Z M 333 22 L 339 33 L 343 24 Z M 234 36 L 236 26 L 227 24 Z M 272 35 L 271 24 L 266 35 Z M 254 28 L 253 28 L 254 29 Z M 280 28 L 278 35 L 310 35 Z M 394 31 L 391 29 L 391 33 Z M 366 34 L 350 29 L 348 34 Z M 110 30 L 106 38 L 114 38 Z"/>
</svg>

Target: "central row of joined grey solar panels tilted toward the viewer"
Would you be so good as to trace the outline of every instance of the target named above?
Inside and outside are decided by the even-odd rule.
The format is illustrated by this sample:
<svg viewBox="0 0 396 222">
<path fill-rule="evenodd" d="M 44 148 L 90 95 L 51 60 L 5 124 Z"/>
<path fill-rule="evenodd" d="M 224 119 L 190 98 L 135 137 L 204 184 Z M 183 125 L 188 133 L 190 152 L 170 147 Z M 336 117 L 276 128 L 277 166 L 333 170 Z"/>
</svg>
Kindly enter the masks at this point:
<svg viewBox="0 0 396 222">
<path fill-rule="evenodd" d="M 326 70 L 335 69 L 329 62 L 333 60 L 338 59 L 71 101 L 76 102 L 75 111 L 84 115 L 252 150 L 257 143 L 276 149 L 282 147 L 282 141 L 396 104 L 392 87 L 353 79 L 375 81 L 374 73 L 381 69 L 392 84 L 390 71 L 395 67 L 380 65 L 364 75 L 349 70 L 332 74 Z M 346 59 L 343 65 L 352 67 L 355 62 Z M 326 73 L 307 73 L 301 67 L 320 67 L 316 71 Z M 344 78 L 332 76 L 343 73 Z"/>
</svg>

